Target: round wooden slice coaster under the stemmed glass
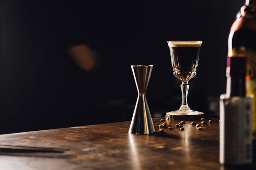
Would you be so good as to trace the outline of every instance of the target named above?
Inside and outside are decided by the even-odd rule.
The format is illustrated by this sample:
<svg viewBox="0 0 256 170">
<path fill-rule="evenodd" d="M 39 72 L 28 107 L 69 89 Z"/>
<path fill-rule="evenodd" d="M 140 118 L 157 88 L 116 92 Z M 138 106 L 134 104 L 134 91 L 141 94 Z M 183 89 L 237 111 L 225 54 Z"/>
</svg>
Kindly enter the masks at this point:
<svg viewBox="0 0 256 170">
<path fill-rule="evenodd" d="M 198 112 L 196 114 L 177 114 L 174 112 L 167 112 L 165 115 L 165 119 L 170 119 L 170 120 L 200 120 L 201 118 L 204 117 L 203 112 Z"/>
</svg>

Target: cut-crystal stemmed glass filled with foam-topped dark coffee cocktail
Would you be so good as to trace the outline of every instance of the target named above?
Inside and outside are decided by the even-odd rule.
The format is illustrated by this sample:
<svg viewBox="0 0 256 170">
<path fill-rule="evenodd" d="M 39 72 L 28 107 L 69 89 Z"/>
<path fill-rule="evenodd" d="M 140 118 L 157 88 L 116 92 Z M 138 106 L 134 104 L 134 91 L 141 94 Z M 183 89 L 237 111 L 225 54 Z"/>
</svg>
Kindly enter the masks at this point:
<svg viewBox="0 0 256 170">
<path fill-rule="evenodd" d="M 202 41 L 168 41 L 174 76 L 182 81 L 182 105 L 179 110 L 166 113 L 166 119 L 171 115 L 201 115 L 203 113 L 191 110 L 188 106 L 188 81 L 196 75 L 199 52 Z"/>
</svg>

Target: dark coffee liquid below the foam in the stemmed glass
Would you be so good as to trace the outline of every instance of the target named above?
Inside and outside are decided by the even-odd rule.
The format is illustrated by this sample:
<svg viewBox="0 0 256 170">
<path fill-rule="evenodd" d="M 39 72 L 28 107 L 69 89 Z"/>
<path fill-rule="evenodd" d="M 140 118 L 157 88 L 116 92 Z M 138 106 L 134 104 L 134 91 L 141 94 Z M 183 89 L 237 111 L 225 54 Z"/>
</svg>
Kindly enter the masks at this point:
<svg viewBox="0 0 256 170">
<path fill-rule="evenodd" d="M 170 47 L 174 76 L 187 81 L 196 75 L 200 46 Z"/>
</svg>

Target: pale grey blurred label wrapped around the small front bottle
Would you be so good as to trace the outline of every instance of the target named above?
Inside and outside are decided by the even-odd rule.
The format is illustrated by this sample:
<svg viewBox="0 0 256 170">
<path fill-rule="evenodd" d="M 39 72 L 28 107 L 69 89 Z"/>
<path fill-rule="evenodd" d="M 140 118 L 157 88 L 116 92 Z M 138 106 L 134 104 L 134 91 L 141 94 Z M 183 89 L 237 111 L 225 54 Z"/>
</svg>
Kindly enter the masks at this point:
<svg viewBox="0 0 256 170">
<path fill-rule="evenodd" d="M 252 96 L 220 96 L 219 162 L 241 165 L 252 162 Z"/>
</svg>

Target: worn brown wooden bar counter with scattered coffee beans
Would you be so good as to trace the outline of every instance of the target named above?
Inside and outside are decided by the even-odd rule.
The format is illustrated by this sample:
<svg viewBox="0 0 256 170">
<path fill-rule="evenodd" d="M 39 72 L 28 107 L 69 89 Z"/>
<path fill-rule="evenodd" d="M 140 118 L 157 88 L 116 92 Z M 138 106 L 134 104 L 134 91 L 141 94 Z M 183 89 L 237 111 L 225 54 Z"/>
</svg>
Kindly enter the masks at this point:
<svg viewBox="0 0 256 170">
<path fill-rule="evenodd" d="M 3 153 L 0 170 L 225 170 L 219 164 L 219 119 L 197 130 L 167 121 L 154 135 L 128 134 L 130 122 L 0 135 L 0 144 L 70 149 L 64 153 Z M 196 121 L 199 123 L 200 121 Z M 256 169 L 255 164 L 252 168 Z"/>
</svg>

